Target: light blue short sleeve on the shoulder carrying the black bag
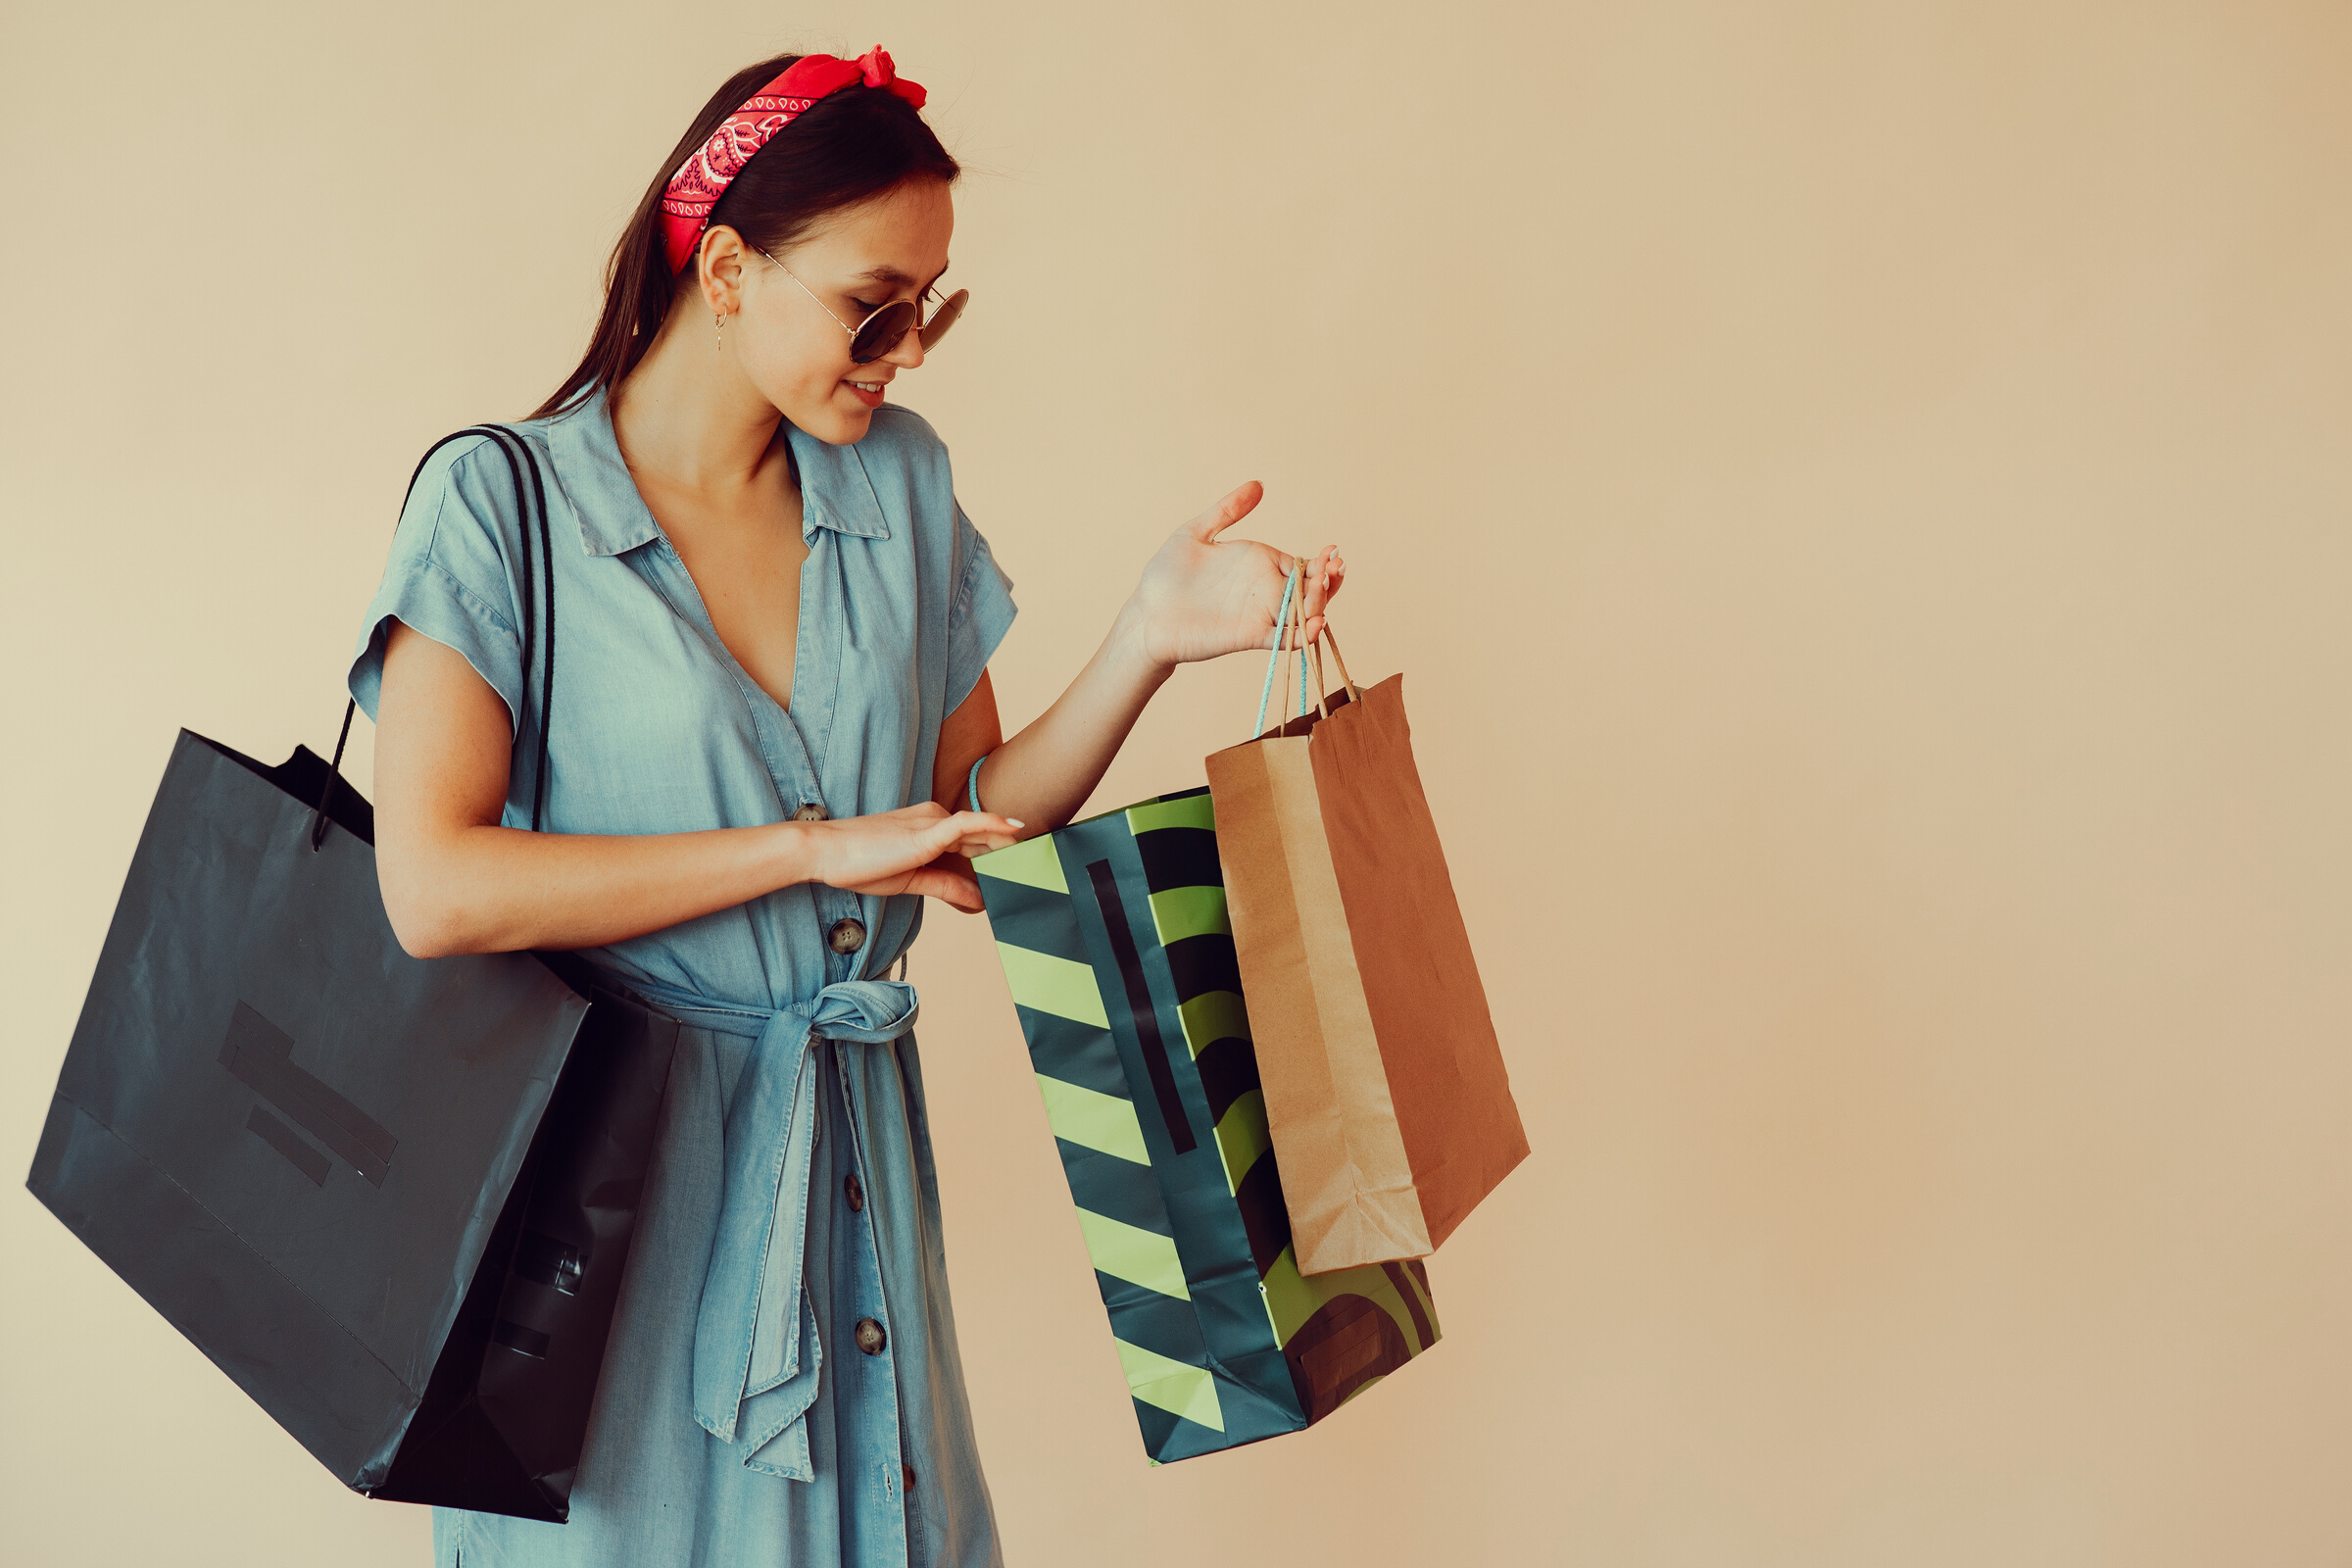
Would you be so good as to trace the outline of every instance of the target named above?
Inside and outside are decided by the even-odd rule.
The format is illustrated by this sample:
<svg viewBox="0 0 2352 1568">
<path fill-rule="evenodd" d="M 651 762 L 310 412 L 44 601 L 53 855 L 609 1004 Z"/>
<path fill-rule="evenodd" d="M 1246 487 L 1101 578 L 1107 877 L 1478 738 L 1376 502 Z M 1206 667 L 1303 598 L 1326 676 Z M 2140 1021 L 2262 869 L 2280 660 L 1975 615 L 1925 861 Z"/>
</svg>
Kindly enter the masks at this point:
<svg viewBox="0 0 2352 1568">
<path fill-rule="evenodd" d="M 506 701 L 508 724 L 522 712 L 522 632 L 515 630 L 515 581 L 508 543 L 520 538 L 510 475 L 477 458 L 489 437 L 426 465 L 400 510 L 383 583 L 360 621 L 360 651 L 350 663 L 350 696 L 376 717 L 383 691 L 383 642 L 393 621 L 466 656 L 466 663 Z M 496 473 L 489 480 L 485 468 Z"/>
</svg>

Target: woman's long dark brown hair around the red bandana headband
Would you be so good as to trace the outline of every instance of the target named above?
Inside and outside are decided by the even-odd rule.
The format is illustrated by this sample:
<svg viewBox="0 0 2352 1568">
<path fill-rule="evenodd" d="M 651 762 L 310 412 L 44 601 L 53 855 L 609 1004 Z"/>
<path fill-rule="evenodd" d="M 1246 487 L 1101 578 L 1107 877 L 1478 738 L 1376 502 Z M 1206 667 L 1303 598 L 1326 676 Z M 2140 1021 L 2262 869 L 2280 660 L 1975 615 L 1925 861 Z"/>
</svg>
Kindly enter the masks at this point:
<svg viewBox="0 0 2352 1568">
<path fill-rule="evenodd" d="M 644 188 L 637 212 L 612 247 L 612 261 L 604 266 L 604 313 L 597 317 L 588 353 L 532 418 L 557 414 L 597 388 L 614 388 L 637 369 L 677 294 L 677 275 L 661 254 L 661 193 L 670 174 L 694 148 L 710 141 L 727 115 L 743 108 L 743 99 L 783 75 L 797 59 L 779 54 L 736 71 L 710 94 L 703 113 L 694 115 L 694 125 L 661 160 L 654 183 Z M 901 181 L 953 181 L 957 174 L 962 167 L 906 99 L 880 87 L 851 85 L 818 99 L 753 153 L 720 205 L 710 209 L 710 226 L 724 223 L 760 249 L 781 252 L 807 235 L 818 219 L 882 195 Z"/>
</svg>

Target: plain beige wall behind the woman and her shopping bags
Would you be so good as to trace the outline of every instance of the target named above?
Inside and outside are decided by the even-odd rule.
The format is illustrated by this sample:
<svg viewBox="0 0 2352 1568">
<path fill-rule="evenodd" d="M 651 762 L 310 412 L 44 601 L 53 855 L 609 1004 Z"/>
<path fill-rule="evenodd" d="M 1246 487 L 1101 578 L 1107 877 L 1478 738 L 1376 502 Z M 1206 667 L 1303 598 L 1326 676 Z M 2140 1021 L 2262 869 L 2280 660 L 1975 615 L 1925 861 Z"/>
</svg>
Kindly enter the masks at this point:
<svg viewBox="0 0 2352 1568">
<path fill-rule="evenodd" d="M 889 42 L 1009 717 L 1263 477 L 1411 672 L 1534 1159 L 1446 1342 L 1145 1469 L 985 926 L 915 952 L 1016 1563 L 2352 1561 L 2340 2 L 12 2 L 12 1563 L 416 1566 L 21 1190 L 174 726 L 332 743 L 416 454 L 703 94 Z M 1192 670 L 1096 804 L 1200 783 Z M 360 776 L 367 736 L 358 738 Z"/>
</svg>

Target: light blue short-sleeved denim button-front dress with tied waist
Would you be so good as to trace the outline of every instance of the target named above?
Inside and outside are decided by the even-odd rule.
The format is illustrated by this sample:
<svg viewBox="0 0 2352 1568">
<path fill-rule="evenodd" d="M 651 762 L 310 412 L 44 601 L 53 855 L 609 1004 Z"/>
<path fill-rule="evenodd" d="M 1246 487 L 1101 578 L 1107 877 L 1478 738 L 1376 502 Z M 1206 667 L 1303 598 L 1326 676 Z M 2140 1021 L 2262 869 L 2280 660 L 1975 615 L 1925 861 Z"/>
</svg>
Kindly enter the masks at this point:
<svg viewBox="0 0 2352 1568">
<path fill-rule="evenodd" d="M 548 475 L 555 555 L 548 832 L 929 799 L 941 719 L 1014 602 L 920 416 L 884 407 L 854 447 L 788 430 L 809 543 L 790 712 L 713 630 L 604 400 L 517 428 Z M 350 670 L 369 717 L 397 618 L 539 733 L 527 548 L 499 449 L 433 454 Z M 524 762 L 510 827 L 529 825 L 529 788 Z M 588 954 L 687 1027 L 572 1521 L 435 1509 L 442 1568 L 1002 1561 L 948 1307 L 915 992 L 887 978 L 920 924 L 920 898 L 804 884 Z"/>
</svg>

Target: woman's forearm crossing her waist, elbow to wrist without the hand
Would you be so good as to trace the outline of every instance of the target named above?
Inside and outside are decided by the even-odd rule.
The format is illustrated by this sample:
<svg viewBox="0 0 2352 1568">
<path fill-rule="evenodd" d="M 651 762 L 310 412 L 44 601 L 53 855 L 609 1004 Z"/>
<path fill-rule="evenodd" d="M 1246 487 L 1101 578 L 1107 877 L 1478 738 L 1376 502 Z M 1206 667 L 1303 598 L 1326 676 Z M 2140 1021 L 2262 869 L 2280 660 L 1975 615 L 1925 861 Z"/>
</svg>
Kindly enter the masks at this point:
<svg viewBox="0 0 2352 1568">
<path fill-rule="evenodd" d="M 593 837 L 416 830 L 379 846 L 393 936 L 421 959 L 604 947 L 811 879 L 800 823 Z"/>
</svg>

